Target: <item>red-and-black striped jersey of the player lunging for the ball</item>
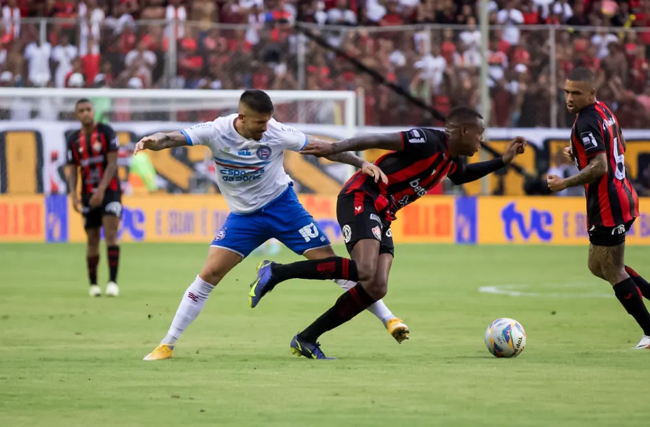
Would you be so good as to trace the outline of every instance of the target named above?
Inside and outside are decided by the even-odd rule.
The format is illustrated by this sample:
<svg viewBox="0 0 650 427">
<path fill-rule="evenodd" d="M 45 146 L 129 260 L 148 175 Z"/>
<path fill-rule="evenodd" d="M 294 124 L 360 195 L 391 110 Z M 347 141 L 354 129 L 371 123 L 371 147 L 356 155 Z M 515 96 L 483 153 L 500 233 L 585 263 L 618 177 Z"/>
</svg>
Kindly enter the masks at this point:
<svg viewBox="0 0 650 427">
<path fill-rule="evenodd" d="M 361 191 L 375 200 L 378 212 L 386 220 L 409 203 L 424 196 L 429 189 L 463 168 L 458 159 L 449 154 L 444 132 L 429 128 L 414 128 L 402 135 L 402 150 L 383 155 L 375 164 L 383 170 L 388 184 L 374 182 L 374 178 L 359 171 L 348 180 L 341 194 Z"/>
</svg>

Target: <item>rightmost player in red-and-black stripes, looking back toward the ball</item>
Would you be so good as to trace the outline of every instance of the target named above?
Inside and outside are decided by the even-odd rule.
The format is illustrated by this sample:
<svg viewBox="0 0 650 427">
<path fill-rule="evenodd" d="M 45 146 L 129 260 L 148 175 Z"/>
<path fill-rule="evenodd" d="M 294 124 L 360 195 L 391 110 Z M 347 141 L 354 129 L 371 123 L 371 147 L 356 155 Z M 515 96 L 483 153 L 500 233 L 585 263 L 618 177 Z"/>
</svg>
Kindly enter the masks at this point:
<svg viewBox="0 0 650 427">
<path fill-rule="evenodd" d="M 643 297 L 650 299 L 650 284 L 625 265 L 625 235 L 639 215 L 639 200 L 625 176 L 625 138 L 610 108 L 596 99 L 594 80 L 592 71 L 579 67 L 564 84 L 566 108 L 576 114 L 565 155 L 575 160 L 580 172 L 547 180 L 553 192 L 584 185 L 589 269 L 610 282 L 618 301 L 643 330 L 634 348 L 650 349 L 650 313 L 643 303 Z"/>
</svg>

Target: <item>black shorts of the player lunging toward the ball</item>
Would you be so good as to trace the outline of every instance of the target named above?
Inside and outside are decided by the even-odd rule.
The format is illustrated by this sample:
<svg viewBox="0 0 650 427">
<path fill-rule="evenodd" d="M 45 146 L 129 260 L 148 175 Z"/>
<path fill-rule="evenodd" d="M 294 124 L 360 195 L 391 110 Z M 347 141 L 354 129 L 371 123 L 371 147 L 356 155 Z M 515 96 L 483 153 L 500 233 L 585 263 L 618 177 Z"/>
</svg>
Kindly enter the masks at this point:
<svg viewBox="0 0 650 427">
<path fill-rule="evenodd" d="M 336 203 L 336 218 L 341 226 L 348 253 L 352 253 L 352 248 L 359 240 L 374 239 L 380 242 L 380 255 L 382 253 L 395 255 L 390 222 L 379 215 L 368 194 L 357 191 L 339 195 Z"/>
</svg>

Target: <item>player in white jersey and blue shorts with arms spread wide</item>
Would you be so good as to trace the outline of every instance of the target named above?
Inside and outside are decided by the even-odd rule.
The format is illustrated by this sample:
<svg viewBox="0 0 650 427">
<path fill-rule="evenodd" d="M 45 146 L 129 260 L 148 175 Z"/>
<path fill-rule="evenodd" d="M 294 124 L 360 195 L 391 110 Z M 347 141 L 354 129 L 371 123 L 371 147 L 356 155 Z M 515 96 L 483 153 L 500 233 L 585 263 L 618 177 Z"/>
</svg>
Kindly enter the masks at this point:
<svg viewBox="0 0 650 427">
<path fill-rule="evenodd" d="M 176 341 L 200 314 L 210 292 L 266 240 L 276 238 L 307 259 L 337 259 L 327 236 L 300 204 L 292 188 L 293 181 L 282 165 L 284 150 L 300 151 L 316 138 L 276 122 L 273 112 L 267 93 L 245 91 L 239 99 L 238 114 L 180 132 L 159 132 L 136 144 L 134 154 L 180 146 L 210 148 L 221 177 L 219 189 L 230 209 L 224 226 L 210 244 L 202 270 L 185 291 L 167 335 L 144 360 L 171 358 Z M 360 168 L 375 180 L 385 179 L 375 165 L 354 154 L 344 152 L 327 159 Z M 356 285 L 347 280 L 336 282 L 344 290 Z M 407 325 L 381 300 L 368 310 L 382 321 L 398 343 L 409 338 Z"/>
</svg>

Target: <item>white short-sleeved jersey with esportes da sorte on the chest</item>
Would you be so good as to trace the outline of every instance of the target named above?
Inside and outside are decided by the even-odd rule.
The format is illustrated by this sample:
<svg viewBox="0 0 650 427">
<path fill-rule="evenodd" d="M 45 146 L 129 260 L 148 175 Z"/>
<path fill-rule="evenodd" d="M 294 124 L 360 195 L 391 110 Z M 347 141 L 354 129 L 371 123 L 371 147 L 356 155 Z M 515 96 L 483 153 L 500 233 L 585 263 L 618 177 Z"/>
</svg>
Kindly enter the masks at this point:
<svg viewBox="0 0 650 427">
<path fill-rule="evenodd" d="M 271 203 L 293 180 L 285 172 L 284 150 L 306 145 L 302 132 L 269 120 L 261 141 L 246 139 L 234 129 L 237 114 L 181 130 L 190 146 L 210 148 L 217 163 L 219 189 L 230 211 L 250 214 Z"/>
</svg>

